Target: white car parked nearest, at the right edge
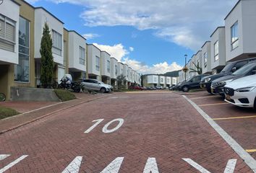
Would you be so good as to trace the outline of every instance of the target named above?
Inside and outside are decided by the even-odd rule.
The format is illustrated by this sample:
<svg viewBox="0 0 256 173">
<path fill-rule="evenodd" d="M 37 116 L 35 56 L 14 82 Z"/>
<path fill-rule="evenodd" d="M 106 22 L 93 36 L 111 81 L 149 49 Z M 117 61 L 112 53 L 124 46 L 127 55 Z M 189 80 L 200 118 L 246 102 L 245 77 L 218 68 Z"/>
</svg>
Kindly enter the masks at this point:
<svg viewBox="0 0 256 173">
<path fill-rule="evenodd" d="M 224 86 L 226 102 L 239 107 L 254 107 L 256 109 L 256 75 L 246 76 L 231 81 Z"/>
</svg>

